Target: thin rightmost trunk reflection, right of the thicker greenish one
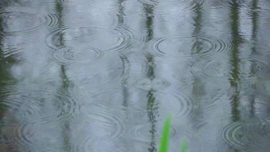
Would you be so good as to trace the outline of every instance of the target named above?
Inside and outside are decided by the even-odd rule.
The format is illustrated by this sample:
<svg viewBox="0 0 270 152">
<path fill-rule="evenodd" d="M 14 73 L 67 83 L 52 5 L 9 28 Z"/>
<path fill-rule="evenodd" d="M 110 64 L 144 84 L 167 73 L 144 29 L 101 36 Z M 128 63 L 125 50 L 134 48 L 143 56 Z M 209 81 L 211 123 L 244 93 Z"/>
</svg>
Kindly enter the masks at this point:
<svg viewBox="0 0 270 152">
<path fill-rule="evenodd" d="M 256 50 L 256 46 L 257 46 L 257 19 L 258 19 L 258 13 L 257 13 L 257 4 L 258 1 L 257 0 L 252 0 L 252 7 L 251 7 L 251 21 L 252 21 L 252 33 L 251 33 L 251 39 L 252 39 L 252 43 L 253 46 L 251 48 L 251 54 L 255 54 L 257 52 Z M 251 69 L 250 69 L 250 73 L 251 74 L 255 74 L 255 67 L 256 67 L 256 63 L 253 61 L 251 64 Z M 253 83 L 250 86 L 253 90 L 256 90 L 256 84 Z M 254 112 L 255 112 L 255 92 L 253 91 L 250 96 L 249 96 L 249 104 L 250 104 L 250 117 L 254 116 Z"/>
</svg>

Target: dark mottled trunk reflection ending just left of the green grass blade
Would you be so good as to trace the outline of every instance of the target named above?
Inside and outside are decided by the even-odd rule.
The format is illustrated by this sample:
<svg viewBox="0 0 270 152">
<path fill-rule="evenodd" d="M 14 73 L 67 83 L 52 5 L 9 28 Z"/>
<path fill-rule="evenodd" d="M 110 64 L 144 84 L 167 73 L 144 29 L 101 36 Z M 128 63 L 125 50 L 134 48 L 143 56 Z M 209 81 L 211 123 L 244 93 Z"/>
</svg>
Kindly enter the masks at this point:
<svg viewBox="0 0 270 152">
<path fill-rule="evenodd" d="M 143 4 L 145 16 L 146 16 L 146 28 L 147 28 L 147 40 L 151 40 L 153 38 L 153 6 L 152 5 L 147 5 Z M 153 57 L 151 54 L 146 55 L 147 59 L 147 65 L 148 65 L 148 70 L 147 70 L 147 77 L 150 80 L 153 80 L 155 77 L 154 73 L 154 63 L 153 63 Z M 155 115 L 157 113 L 157 109 L 155 109 L 154 104 L 155 104 L 155 97 L 154 93 L 155 90 L 150 89 L 147 93 L 147 113 L 148 113 L 148 118 L 151 123 L 151 128 L 150 128 L 150 133 L 151 133 L 151 142 L 150 142 L 150 147 L 148 148 L 149 152 L 156 151 L 156 145 L 155 145 L 155 132 L 156 132 L 156 127 L 155 127 Z"/>
</svg>

